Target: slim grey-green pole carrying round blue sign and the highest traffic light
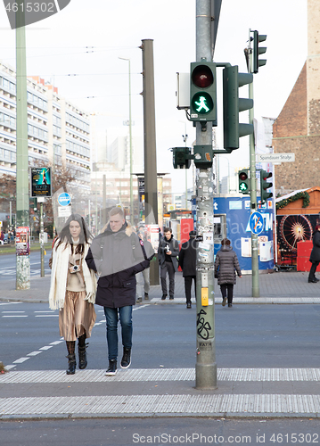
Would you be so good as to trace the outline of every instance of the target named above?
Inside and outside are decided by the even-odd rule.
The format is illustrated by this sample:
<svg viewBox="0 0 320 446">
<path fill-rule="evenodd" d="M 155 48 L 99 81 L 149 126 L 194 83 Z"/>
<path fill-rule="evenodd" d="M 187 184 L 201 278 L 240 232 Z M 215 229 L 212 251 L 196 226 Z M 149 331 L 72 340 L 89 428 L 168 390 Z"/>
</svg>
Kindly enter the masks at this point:
<svg viewBox="0 0 320 446">
<path fill-rule="evenodd" d="M 249 33 L 250 37 L 250 33 Z M 249 38 L 250 45 L 250 38 Z M 252 51 L 249 49 L 250 73 L 252 70 Z M 253 82 L 249 84 L 249 98 L 253 100 Z M 249 122 L 253 125 L 254 108 L 249 110 Z M 256 151 L 254 146 L 254 133 L 250 135 L 250 213 L 257 211 L 257 180 L 256 180 Z M 252 270 L 252 297 L 259 297 L 258 284 L 258 235 L 251 232 L 251 270 Z"/>
</svg>

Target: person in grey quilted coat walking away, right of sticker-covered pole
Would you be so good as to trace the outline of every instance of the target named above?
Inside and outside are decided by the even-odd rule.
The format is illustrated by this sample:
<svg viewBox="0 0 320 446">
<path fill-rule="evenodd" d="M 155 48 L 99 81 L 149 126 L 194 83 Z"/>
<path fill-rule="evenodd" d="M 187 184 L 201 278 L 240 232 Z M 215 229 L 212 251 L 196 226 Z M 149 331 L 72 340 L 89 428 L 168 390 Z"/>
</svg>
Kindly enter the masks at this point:
<svg viewBox="0 0 320 446">
<path fill-rule="evenodd" d="M 217 278 L 217 285 L 220 285 L 223 307 L 226 305 L 226 300 L 228 301 L 228 307 L 233 306 L 235 272 L 239 277 L 242 277 L 238 257 L 230 246 L 230 240 L 224 238 L 215 260 L 215 277 Z"/>
</svg>

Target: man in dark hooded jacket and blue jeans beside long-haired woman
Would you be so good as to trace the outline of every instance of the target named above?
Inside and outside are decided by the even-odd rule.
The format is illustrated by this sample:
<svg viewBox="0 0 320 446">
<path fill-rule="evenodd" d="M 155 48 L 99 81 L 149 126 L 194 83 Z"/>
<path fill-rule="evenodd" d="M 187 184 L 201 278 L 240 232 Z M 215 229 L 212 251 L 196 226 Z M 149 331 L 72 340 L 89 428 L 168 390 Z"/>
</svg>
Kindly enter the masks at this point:
<svg viewBox="0 0 320 446">
<path fill-rule="evenodd" d="M 100 274 L 95 303 L 104 307 L 107 321 L 109 368 L 107 376 L 117 373 L 118 314 L 121 324 L 123 356 L 121 368 L 131 364 L 132 306 L 135 305 L 135 274 L 149 268 L 150 260 L 129 227 L 121 208 L 109 212 L 110 221 L 96 236 L 86 256 L 89 268 Z"/>
</svg>

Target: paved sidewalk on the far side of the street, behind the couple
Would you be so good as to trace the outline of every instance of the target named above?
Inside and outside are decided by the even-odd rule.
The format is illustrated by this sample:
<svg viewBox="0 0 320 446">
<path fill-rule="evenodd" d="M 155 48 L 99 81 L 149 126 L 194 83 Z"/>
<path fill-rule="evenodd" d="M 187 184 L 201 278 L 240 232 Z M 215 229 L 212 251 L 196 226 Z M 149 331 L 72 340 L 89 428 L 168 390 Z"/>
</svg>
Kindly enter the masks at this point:
<svg viewBox="0 0 320 446">
<path fill-rule="evenodd" d="M 50 276 L 31 277 L 29 290 L 15 290 L 15 279 L 0 282 L 0 301 L 48 301 Z M 320 303 L 319 284 L 308 284 L 308 272 L 274 272 L 259 275 L 260 297 L 252 298 L 251 275 L 237 277 L 234 286 L 234 303 Z M 220 288 L 215 280 L 216 302 L 220 303 Z M 162 293 L 160 285 L 151 287 L 148 303 L 158 303 Z M 161 303 L 185 303 L 185 285 L 182 273 L 176 274 L 176 293 L 174 301 Z"/>
</svg>

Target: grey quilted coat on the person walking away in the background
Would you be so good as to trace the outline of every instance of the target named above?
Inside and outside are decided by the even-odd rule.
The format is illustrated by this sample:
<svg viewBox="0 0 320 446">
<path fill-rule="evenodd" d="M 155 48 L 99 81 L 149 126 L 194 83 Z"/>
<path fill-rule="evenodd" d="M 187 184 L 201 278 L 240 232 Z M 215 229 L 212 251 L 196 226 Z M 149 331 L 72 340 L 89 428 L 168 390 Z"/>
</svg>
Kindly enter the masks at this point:
<svg viewBox="0 0 320 446">
<path fill-rule="evenodd" d="M 236 253 L 230 245 L 221 246 L 220 251 L 217 252 L 215 260 L 215 277 L 217 277 L 217 285 L 235 285 L 235 271 L 238 273 L 238 276 L 242 276 Z"/>
</svg>

